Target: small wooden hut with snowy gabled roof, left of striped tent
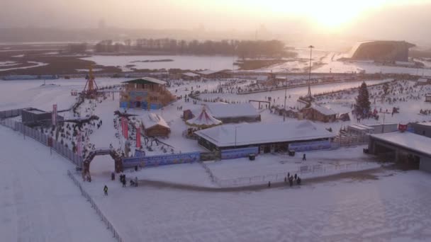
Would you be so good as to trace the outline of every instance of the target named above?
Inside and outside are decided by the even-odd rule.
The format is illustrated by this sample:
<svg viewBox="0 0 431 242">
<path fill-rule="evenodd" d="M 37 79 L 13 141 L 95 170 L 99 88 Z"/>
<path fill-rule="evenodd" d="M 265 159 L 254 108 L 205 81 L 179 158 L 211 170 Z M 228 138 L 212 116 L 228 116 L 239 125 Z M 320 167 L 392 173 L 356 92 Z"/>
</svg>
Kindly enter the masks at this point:
<svg viewBox="0 0 431 242">
<path fill-rule="evenodd" d="M 146 136 L 169 137 L 171 128 L 163 117 L 155 113 L 146 113 L 142 116 L 142 130 Z"/>
</svg>

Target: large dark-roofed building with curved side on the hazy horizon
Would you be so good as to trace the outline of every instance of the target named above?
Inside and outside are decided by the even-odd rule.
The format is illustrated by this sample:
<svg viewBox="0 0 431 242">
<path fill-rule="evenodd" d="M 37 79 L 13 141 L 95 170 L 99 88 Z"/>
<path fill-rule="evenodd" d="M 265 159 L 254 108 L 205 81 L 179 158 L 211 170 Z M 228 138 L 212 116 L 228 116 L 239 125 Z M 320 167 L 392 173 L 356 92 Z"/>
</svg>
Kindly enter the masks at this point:
<svg viewBox="0 0 431 242">
<path fill-rule="evenodd" d="M 415 45 L 405 41 L 371 40 L 358 42 L 350 51 L 350 59 L 379 62 L 408 62 L 408 49 Z"/>
</svg>

